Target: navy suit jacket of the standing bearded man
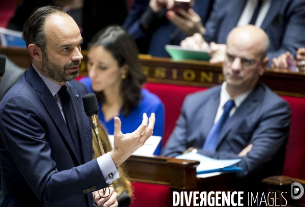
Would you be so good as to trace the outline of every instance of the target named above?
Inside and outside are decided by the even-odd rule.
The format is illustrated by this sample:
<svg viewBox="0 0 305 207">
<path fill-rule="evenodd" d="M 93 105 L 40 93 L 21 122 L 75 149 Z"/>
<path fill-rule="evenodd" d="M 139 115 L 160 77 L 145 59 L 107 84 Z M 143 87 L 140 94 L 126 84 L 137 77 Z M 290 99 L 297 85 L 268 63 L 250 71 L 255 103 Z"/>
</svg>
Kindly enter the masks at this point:
<svg viewBox="0 0 305 207">
<path fill-rule="evenodd" d="M 76 153 L 54 97 L 32 65 L 2 100 L 0 164 L 4 197 L 0 206 L 92 207 L 93 192 L 84 190 L 107 186 L 97 160 L 92 161 L 92 129 L 82 104 L 88 90 L 76 80 L 68 84 L 73 110 L 77 111 L 82 157 Z"/>
</svg>

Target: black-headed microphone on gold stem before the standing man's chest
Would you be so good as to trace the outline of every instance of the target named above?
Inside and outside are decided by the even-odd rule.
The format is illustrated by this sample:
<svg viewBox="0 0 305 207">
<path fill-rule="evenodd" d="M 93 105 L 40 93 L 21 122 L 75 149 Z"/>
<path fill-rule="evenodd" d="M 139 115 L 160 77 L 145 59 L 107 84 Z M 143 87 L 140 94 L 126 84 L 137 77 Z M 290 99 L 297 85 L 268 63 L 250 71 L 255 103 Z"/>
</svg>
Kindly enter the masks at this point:
<svg viewBox="0 0 305 207">
<path fill-rule="evenodd" d="M 99 104 L 95 94 L 85 94 L 82 97 L 85 113 L 89 116 L 91 127 L 96 135 L 98 140 L 100 152 L 102 155 L 105 155 L 104 148 L 102 145 L 102 139 L 100 137 L 100 122 L 99 122 Z M 113 188 L 113 183 L 108 184 L 109 187 Z"/>
</svg>

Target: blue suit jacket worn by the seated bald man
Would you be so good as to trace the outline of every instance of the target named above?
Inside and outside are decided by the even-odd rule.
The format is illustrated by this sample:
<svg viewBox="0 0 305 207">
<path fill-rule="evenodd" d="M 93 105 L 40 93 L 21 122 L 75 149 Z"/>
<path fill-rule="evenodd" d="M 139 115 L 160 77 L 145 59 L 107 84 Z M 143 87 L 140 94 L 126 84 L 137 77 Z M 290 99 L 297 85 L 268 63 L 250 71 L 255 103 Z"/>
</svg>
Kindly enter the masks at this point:
<svg viewBox="0 0 305 207">
<path fill-rule="evenodd" d="M 162 155 L 175 157 L 189 147 L 215 159 L 238 159 L 250 143 L 252 150 L 241 157 L 238 177 L 259 180 L 278 174 L 284 162 L 284 149 L 290 126 L 290 107 L 266 85 L 258 83 L 225 123 L 216 152 L 202 150 L 214 123 L 220 103 L 221 86 L 189 95 Z"/>
</svg>

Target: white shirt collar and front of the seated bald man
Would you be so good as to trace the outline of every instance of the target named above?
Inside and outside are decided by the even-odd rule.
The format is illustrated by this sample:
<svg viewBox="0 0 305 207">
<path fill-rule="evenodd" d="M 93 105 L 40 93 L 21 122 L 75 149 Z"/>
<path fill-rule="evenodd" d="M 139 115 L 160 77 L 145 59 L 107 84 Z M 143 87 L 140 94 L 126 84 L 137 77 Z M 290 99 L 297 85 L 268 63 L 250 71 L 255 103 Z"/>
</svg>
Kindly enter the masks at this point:
<svg viewBox="0 0 305 207">
<path fill-rule="evenodd" d="M 227 82 L 223 82 L 222 86 L 221 86 L 221 92 L 220 92 L 220 102 L 219 102 L 219 106 L 218 106 L 218 110 L 215 116 L 215 120 L 214 120 L 214 124 L 218 122 L 218 120 L 220 119 L 221 115 L 223 114 L 224 110 L 225 110 L 225 104 L 229 101 L 229 100 L 234 100 L 235 106 L 231 109 L 230 111 L 230 117 L 235 113 L 236 109 L 240 106 L 240 104 L 245 101 L 245 99 L 249 96 L 249 94 L 253 91 L 254 88 L 251 88 L 251 90 L 244 92 L 234 98 L 232 98 L 227 90 L 226 90 L 226 85 Z"/>
</svg>

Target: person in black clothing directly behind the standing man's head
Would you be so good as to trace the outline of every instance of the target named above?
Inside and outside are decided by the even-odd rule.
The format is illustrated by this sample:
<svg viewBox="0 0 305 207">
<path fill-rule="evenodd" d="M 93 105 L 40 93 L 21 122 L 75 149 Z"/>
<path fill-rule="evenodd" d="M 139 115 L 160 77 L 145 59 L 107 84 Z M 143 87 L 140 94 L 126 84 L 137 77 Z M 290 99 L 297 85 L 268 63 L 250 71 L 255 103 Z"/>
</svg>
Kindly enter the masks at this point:
<svg viewBox="0 0 305 207">
<path fill-rule="evenodd" d="M 82 49 L 102 28 L 111 24 L 123 24 L 128 7 L 126 0 L 23 0 L 17 7 L 7 28 L 23 32 L 23 25 L 35 9 L 47 5 L 63 7 L 80 28 L 84 42 Z"/>
</svg>

